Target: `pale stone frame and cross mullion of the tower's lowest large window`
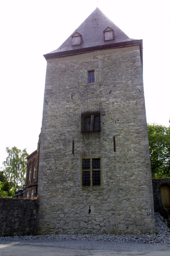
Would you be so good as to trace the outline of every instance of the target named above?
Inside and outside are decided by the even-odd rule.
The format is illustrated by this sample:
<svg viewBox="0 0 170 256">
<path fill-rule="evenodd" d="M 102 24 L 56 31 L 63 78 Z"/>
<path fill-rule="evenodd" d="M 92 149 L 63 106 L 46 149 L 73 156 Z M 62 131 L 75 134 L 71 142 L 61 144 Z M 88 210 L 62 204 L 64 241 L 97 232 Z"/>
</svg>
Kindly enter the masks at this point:
<svg viewBox="0 0 170 256">
<path fill-rule="evenodd" d="M 92 159 L 96 159 L 96 158 L 100 158 L 100 186 L 93 186 L 93 169 L 92 169 Z M 83 159 L 90 159 L 90 186 L 83 186 L 83 172 L 86 170 L 82 169 L 82 160 Z M 94 169 L 94 170 L 98 170 L 98 169 Z M 80 188 L 83 189 L 88 189 L 88 188 L 103 188 L 103 162 L 102 162 L 102 156 L 84 156 L 84 157 L 80 157 Z"/>
</svg>

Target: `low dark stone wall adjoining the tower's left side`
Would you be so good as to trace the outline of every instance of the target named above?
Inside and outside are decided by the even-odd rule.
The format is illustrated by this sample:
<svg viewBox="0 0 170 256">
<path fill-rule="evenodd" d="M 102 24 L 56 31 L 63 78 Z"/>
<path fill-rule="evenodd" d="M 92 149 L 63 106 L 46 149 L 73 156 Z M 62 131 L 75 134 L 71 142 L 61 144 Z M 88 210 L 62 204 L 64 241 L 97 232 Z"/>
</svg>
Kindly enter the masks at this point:
<svg viewBox="0 0 170 256">
<path fill-rule="evenodd" d="M 0 198 L 0 236 L 35 235 L 37 201 Z"/>
</svg>

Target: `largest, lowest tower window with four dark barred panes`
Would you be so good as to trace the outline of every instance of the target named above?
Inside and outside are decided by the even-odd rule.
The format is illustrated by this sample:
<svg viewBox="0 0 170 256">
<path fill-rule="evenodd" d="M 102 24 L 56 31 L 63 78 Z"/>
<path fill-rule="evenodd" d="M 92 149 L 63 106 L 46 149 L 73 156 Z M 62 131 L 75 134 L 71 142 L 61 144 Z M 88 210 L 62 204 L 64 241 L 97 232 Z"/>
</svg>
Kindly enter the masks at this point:
<svg viewBox="0 0 170 256">
<path fill-rule="evenodd" d="M 101 186 L 101 158 L 87 158 L 81 161 L 81 186 Z"/>
</svg>

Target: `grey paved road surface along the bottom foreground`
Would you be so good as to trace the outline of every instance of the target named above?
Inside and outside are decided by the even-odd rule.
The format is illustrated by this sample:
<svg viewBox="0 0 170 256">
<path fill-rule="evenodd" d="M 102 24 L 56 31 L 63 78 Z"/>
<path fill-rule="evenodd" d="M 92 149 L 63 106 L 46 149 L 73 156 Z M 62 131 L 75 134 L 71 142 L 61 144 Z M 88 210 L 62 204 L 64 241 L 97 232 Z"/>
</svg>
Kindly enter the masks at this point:
<svg viewBox="0 0 170 256">
<path fill-rule="evenodd" d="M 73 242 L 74 243 L 74 242 Z M 65 244 L 66 245 L 66 244 Z M 112 244 L 114 247 L 114 244 Z M 86 246 L 87 247 L 87 246 Z M 122 249 L 121 249 L 122 248 Z M 119 247 L 115 244 L 113 249 L 80 249 L 80 248 L 66 248 L 49 245 L 38 244 L 0 244 L 0 256 L 170 256 L 170 246 L 144 244 L 143 247 L 131 243 L 119 243 Z"/>
</svg>

